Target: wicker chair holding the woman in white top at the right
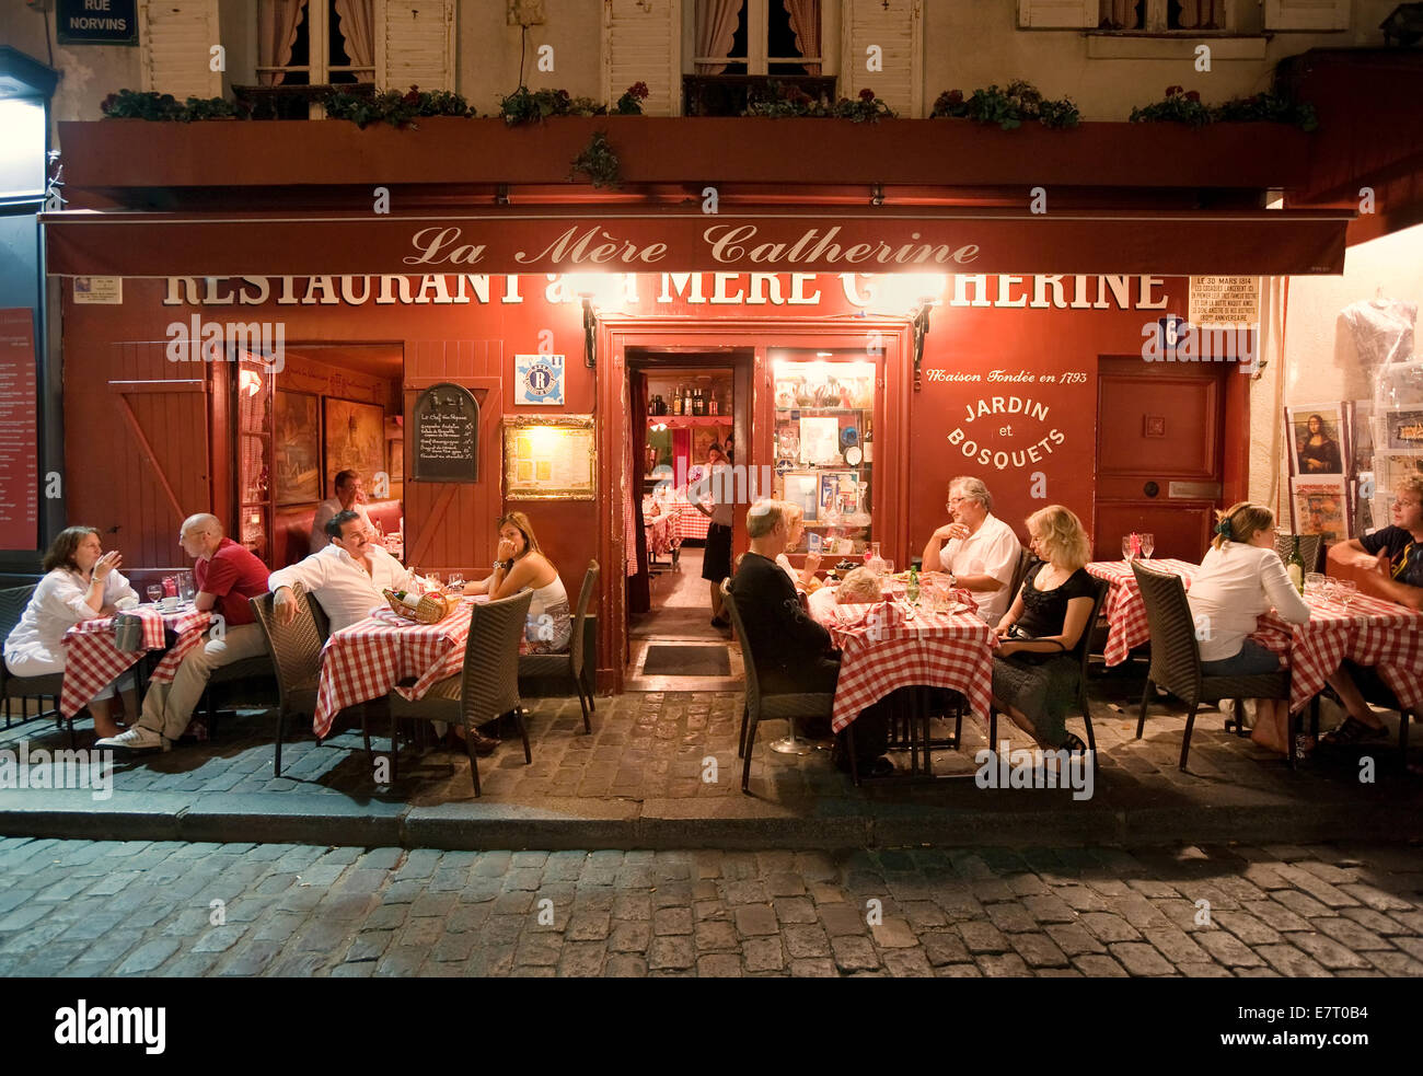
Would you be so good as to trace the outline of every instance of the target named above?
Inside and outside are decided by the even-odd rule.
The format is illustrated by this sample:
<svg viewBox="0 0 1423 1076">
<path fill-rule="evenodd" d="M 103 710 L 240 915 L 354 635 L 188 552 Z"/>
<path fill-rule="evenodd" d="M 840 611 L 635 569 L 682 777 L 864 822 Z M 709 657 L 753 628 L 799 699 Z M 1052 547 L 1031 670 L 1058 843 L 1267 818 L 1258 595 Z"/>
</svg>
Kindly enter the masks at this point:
<svg viewBox="0 0 1423 1076">
<path fill-rule="evenodd" d="M 1195 726 L 1195 712 L 1202 702 L 1218 703 L 1234 699 L 1237 710 L 1244 699 L 1289 699 L 1289 673 L 1274 672 L 1259 676 L 1205 676 L 1201 672 L 1201 646 L 1195 639 L 1195 621 L 1185 601 L 1185 588 L 1177 575 L 1143 568 L 1131 562 L 1131 571 L 1141 588 L 1141 599 L 1147 606 L 1147 625 L 1151 632 L 1151 670 L 1141 693 L 1141 710 L 1137 714 L 1137 739 L 1147 723 L 1147 703 L 1151 689 L 1160 686 L 1178 697 L 1187 706 L 1185 736 L 1181 740 L 1181 770 L 1191 750 L 1191 730 Z M 1295 766 L 1294 719 L 1286 734 L 1289 737 L 1289 766 Z"/>
</svg>

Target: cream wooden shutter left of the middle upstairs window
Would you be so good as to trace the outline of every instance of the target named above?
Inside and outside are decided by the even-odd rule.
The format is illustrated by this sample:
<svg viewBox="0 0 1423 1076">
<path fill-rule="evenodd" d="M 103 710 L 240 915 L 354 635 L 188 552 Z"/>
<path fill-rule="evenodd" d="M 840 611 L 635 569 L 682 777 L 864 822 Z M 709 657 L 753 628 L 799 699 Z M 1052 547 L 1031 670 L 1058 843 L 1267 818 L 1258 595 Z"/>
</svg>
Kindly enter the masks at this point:
<svg viewBox="0 0 1423 1076">
<path fill-rule="evenodd" d="M 646 115 L 682 112 L 682 4 L 679 0 L 603 0 L 603 100 L 647 84 Z"/>
</svg>

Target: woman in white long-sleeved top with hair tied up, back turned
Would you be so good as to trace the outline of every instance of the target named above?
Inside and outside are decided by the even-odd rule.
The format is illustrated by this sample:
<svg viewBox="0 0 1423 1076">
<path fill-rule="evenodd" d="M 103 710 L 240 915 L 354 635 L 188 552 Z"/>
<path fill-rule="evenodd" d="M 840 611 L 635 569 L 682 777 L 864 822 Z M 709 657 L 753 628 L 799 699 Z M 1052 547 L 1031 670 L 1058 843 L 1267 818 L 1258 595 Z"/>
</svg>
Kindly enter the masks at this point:
<svg viewBox="0 0 1423 1076">
<path fill-rule="evenodd" d="M 1275 609 L 1289 623 L 1309 621 L 1309 606 L 1275 552 L 1275 515 L 1249 501 L 1217 512 L 1215 541 L 1191 579 L 1187 601 L 1201 640 L 1207 676 L 1257 676 L 1279 669 L 1279 656 L 1247 638 L 1261 613 Z M 1257 699 L 1251 739 L 1286 753 L 1289 703 Z"/>
</svg>

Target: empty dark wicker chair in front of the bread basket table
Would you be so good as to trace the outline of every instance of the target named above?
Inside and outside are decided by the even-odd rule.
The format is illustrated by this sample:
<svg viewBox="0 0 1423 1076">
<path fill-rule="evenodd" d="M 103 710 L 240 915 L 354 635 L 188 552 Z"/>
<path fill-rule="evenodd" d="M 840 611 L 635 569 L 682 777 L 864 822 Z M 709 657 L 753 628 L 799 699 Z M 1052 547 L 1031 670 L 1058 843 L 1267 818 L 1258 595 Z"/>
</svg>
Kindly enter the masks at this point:
<svg viewBox="0 0 1423 1076">
<path fill-rule="evenodd" d="M 480 761 L 474 754 L 472 732 L 507 713 L 514 714 L 524 740 L 524 763 L 531 764 L 529 734 L 519 702 L 519 639 L 529 613 L 531 591 L 475 605 L 470 611 L 470 640 L 464 648 L 464 670 L 434 683 L 425 696 L 410 702 L 400 692 L 390 699 L 390 779 L 397 777 L 396 720 L 454 722 L 464 726 L 470 750 L 470 776 L 480 794 Z"/>
</svg>

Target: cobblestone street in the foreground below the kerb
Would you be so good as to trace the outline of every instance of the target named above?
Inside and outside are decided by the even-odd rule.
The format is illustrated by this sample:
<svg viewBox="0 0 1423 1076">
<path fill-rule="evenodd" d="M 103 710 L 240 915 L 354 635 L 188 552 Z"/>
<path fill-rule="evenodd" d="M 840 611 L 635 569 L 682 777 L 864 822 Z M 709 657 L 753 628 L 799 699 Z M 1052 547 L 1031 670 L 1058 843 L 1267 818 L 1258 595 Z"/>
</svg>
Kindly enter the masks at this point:
<svg viewBox="0 0 1423 1076">
<path fill-rule="evenodd" d="M 6 838 L 0 974 L 1416 976 L 1423 850 Z"/>
</svg>

